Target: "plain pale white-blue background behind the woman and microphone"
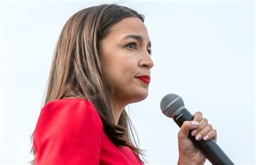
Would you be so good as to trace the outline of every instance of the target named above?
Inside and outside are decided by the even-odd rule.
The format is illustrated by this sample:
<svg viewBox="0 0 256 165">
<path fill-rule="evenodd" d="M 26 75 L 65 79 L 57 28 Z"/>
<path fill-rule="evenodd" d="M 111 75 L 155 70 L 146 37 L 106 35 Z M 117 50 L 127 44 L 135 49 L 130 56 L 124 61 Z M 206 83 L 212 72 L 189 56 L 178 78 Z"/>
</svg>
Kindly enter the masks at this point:
<svg viewBox="0 0 256 165">
<path fill-rule="evenodd" d="M 103 3 L 2 3 L 1 164 L 32 160 L 30 135 L 60 31 L 74 13 Z M 179 128 L 159 107 L 161 98 L 174 93 L 191 113 L 203 112 L 235 164 L 254 164 L 254 1 L 118 3 L 145 14 L 152 42 L 149 96 L 127 110 L 146 160 L 177 163 Z"/>
</svg>

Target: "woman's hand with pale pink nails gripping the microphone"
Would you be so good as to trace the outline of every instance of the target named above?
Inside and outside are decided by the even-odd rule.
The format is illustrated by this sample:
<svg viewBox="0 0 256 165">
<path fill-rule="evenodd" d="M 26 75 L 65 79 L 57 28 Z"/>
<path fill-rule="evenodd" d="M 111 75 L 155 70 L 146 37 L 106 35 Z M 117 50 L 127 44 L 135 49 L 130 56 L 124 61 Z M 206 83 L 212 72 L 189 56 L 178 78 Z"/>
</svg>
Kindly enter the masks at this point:
<svg viewBox="0 0 256 165">
<path fill-rule="evenodd" d="M 203 118 L 201 112 L 194 113 L 193 121 L 185 121 L 178 133 L 179 160 L 178 164 L 204 164 L 206 157 L 197 149 L 188 138 L 188 133 L 196 137 L 197 140 L 213 139 L 217 141 L 217 132 L 208 124 L 208 120 Z"/>
</svg>

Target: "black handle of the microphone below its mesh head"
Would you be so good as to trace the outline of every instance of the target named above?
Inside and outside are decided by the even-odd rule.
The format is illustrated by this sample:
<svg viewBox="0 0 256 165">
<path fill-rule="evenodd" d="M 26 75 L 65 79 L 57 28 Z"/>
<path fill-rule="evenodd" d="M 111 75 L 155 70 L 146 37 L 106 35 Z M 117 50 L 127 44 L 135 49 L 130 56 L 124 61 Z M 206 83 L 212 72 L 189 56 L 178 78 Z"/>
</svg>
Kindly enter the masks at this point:
<svg viewBox="0 0 256 165">
<path fill-rule="evenodd" d="M 179 111 L 176 116 L 173 117 L 173 120 L 179 127 L 181 127 L 184 121 L 192 121 L 193 119 L 194 117 L 186 108 Z M 191 130 L 188 137 L 191 139 L 194 146 L 201 150 L 206 159 L 212 164 L 234 164 L 213 139 L 206 141 L 201 139 L 198 141 L 191 135 Z"/>
</svg>

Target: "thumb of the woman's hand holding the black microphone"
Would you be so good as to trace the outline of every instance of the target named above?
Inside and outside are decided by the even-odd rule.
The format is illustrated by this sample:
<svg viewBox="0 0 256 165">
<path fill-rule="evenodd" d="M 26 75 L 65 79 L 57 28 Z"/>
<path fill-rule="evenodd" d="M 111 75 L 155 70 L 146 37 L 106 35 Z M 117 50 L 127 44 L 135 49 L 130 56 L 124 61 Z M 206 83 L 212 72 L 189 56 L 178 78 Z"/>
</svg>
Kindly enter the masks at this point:
<svg viewBox="0 0 256 165">
<path fill-rule="evenodd" d="M 180 127 L 178 138 L 188 138 L 188 133 L 190 132 L 190 130 L 196 129 L 198 125 L 198 121 L 184 121 L 184 123 Z"/>
</svg>

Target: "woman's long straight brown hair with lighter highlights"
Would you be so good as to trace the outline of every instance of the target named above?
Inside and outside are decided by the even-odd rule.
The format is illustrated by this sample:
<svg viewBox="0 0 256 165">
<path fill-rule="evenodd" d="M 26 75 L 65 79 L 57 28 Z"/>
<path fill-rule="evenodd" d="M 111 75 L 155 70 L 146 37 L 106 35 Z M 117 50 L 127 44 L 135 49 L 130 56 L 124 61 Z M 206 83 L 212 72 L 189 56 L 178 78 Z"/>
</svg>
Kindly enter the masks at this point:
<svg viewBox="0 0 256 165">
<path fill-rule="evenodd" d="M 117 4 L 91 6 L 78 11 L 66 22 L 53 53 L 43 106 L 64 97 L 90 99 L 102 120 L 104 132 L 113 144 L 130 147 L 142 161 L 137 154 L 145 154 L 136 144 L 131 129 L 133 125 L 125 109 L 118 125 L 114 124 L 113 87 L 100 67 L 100 41 L 110 33 L 111 26 L 126 17 L 138 17 L 144 22 L 144 15 Z M 131 135 L 136 147 L 132 144 Z M 30 163 L 34 164 L 36 153 L 33 145 L 30 153 L 34 156 Z"/>
</svg>

